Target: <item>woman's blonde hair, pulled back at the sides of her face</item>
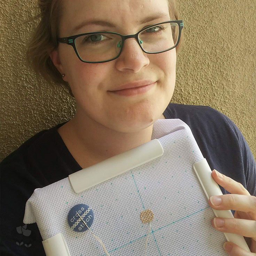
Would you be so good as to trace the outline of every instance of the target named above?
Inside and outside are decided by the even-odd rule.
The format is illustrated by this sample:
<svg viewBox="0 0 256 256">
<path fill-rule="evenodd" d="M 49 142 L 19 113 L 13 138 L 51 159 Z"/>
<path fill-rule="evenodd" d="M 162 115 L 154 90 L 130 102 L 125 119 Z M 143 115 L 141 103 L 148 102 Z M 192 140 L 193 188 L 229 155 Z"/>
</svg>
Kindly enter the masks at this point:
<svg viewBox="0 0 256 256">
<path fill-rule="evenodd" d="M 181 20 L 176 0 L 168 0 L 168 7 L 170 18 Z M 36 9 L 39 14 L 24 22 L 28 23 L 40 18 L 40 22 L 25 46 L 28 67 L 36 72 L 38 78 L 42 76 L 49 84 L 56 84 L 67 89 L 69 94 L 74 97 L 69 84 L 62 79 L 62 74 L 49 56 L 58 47 L 57 37 L 59 37 L 59 22 L 62 15 L 61 0 L 38 0 Z M 181 33 L 176 54 L 179 54 L 183 44 L 184 36 Z"/>
</svg>

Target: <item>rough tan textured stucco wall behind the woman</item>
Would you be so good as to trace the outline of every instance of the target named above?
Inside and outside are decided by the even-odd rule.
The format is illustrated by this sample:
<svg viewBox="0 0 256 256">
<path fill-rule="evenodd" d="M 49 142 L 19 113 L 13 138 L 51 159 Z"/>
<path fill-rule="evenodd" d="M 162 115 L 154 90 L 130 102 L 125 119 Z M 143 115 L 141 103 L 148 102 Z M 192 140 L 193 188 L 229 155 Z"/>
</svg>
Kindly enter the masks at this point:
<svg viewBox="0 0 256 256">
<path fill-rule="evenodd" d="M 178 1 L 185 45 L 174 103 L 208 105 L 240 128 L 256 156 L 256 1 Z M 24 64 L 36 0 L 0 1 L 0 160 L 37 132 L 70 119 L 75 102 Z"/>
</svg>

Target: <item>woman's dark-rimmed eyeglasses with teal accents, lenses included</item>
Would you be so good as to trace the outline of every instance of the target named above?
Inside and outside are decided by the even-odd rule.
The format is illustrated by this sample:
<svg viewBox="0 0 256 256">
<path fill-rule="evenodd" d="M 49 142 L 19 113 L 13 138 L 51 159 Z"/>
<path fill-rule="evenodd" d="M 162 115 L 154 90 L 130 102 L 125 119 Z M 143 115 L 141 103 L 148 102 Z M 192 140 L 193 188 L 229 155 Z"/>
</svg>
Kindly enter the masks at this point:
<svg viewBox="0 0 256 256">
<path fill-rule="evenodd" d="M 133 35 L 100 31 L 57 38 L 57 41 L 73 46 L 80 61 L 102 63 L 117 59 L 128 38 L 135 38 L 142 51 L 148 54 L 170 51 L 179 44 L 183 27 L 183 20 L 166 21 L 147 26 Z"/>
</svg>

